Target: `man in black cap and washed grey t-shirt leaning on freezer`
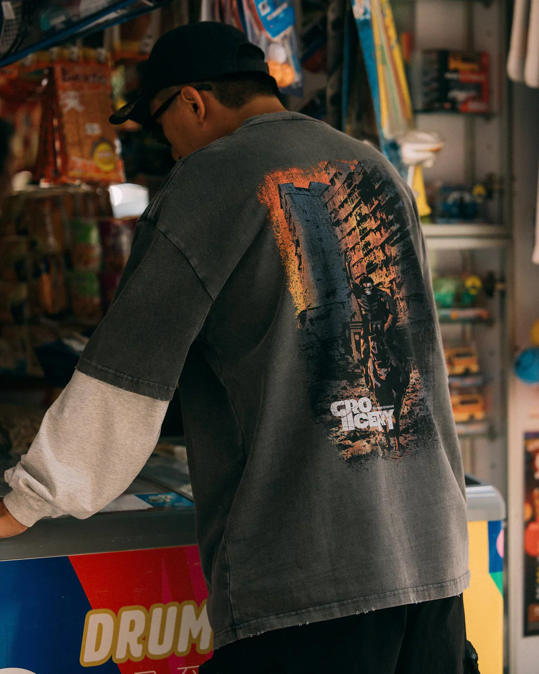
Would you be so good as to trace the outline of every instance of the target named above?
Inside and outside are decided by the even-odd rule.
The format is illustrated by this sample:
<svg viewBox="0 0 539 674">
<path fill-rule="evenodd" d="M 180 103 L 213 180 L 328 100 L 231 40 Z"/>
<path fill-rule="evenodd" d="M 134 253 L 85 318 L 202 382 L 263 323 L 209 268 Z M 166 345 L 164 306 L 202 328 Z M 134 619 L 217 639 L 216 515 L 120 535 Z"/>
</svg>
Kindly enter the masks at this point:
<svg viewBox="0 0 539 674">
<path fill-rule="evenodd" d="M 285 111 L 245 40 L 220 24 L 172 30 L 112 118 L 182 159 L 73 379 L 7 472 L 0 532 L 119 495 L 179 380 L 216 648 L 200 671 L 461 673 L 464 474 L 413 197 L 378 152 Z M 400 457 L 375 450 L 391 410 L 338 367 L 356 244 L 359 276 L 392 270 L 408 307 Z"/>
</svg>

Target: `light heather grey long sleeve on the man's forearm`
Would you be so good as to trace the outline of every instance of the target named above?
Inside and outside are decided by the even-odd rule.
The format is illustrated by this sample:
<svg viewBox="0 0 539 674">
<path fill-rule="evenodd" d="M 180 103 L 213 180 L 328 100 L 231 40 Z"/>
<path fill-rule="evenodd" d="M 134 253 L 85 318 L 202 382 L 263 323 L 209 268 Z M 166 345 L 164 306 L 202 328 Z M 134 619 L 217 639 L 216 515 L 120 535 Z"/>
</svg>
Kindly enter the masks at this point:
<svg viewBox="0 0 539 674">
<path fill-rule="evenodd" d="M 90 517 L 137 477 L 159 437 L 167 402 L 75 372 L 47 410 L 28 454 L 5 472 L 13 517 Z"/>
</svg>

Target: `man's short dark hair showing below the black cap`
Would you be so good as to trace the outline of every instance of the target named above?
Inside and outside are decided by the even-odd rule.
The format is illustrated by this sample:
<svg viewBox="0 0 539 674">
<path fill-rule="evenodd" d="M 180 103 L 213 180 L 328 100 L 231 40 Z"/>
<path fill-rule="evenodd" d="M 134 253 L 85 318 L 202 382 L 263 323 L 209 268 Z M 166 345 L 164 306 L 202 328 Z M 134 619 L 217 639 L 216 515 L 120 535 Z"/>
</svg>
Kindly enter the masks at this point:
<svg viewBox="0 0 539 674">
<path fill-rule="evenodd" d="M 191 82 L 190 84 L 191 86 L 210 84 L 212 86 L 210 93 L 214 98 L 220 104 L 234 110 L 243 107 L 257 96 L 279 97 L 279 89 L 274 78 L 265 73 L 234 73 L 232 75 L 222 75 L 215 80 Z M 159 92 L 158 98 L 166 100 L 168 96 L 171 96 L 178 89 L 178 86 L 166 88 Z"/>
</svg>

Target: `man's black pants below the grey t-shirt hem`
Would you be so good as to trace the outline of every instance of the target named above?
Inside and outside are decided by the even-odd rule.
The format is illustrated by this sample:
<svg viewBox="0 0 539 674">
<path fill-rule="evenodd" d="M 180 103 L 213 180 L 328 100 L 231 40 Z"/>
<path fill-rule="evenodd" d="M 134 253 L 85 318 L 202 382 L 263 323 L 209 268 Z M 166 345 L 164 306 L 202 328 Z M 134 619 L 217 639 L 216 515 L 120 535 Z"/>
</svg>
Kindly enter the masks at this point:
<svg viewBox="0 0 539 674">
<path fill-rule="evenodd" d="M 223 646 L 200 674 L 464 674 L 462 596 L 285 627 Z"/>
</svg>

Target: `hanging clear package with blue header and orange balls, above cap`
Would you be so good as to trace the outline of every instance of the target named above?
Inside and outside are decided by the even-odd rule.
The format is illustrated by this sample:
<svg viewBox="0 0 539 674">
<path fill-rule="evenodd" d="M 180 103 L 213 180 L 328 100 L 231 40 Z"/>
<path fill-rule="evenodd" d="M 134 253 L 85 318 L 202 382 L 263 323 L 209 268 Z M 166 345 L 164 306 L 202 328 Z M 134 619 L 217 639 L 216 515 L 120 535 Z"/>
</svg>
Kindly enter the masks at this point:
<svg viewBox="0 0 539 674">
<path fill-rule="evenodd" d="M 265 53 L 270 75 L 284 94 L 301 96 L 303 72 L 296 34 L 296 13 L 288 0 L 237 0 L 247 36 Z"/>
</svg>

